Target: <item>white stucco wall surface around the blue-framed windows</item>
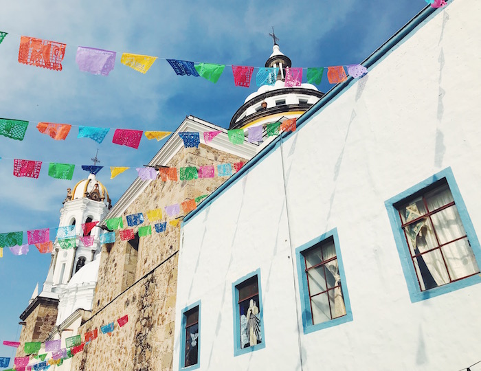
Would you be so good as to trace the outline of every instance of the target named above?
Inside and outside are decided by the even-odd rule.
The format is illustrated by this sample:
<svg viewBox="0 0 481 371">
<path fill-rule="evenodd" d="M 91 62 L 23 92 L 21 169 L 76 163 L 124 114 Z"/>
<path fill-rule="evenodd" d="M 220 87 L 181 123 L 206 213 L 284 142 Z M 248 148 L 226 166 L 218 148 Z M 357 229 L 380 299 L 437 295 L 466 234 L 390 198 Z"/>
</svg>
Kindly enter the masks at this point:
<svg viewBox="0 0 481 371">
<path fill-rule="evenodd" d="M 302 370 L 456 371 L 481 359 L 481 284 L 412 303 L 384 205 L 451 167 L 481 234 L 480 12 L 474 0 L 437 12 L 183 225 L 174 370 L 181 310 L 197 300 L 200 370 L 302 359 Z M 293 251 L 333 228 L 353 321 L 304 335 Z M 234 357 L 232 282 L 258 268 L 266 346 Z"/>
</svg>

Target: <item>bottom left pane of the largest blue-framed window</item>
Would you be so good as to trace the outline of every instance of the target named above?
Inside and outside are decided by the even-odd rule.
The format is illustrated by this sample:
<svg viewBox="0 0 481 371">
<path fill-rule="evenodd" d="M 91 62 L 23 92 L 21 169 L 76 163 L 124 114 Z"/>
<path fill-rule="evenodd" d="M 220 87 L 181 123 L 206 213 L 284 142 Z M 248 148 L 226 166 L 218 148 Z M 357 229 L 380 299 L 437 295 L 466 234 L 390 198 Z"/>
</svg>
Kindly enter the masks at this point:
<svg viewBox="0 0 481 371">
<path fill-rule="evenodd" d="M 417 256 L 413 261 L 421 290 L 433 289 L 449 282 L 443 256 L 439 249 Z"/>
</svg>

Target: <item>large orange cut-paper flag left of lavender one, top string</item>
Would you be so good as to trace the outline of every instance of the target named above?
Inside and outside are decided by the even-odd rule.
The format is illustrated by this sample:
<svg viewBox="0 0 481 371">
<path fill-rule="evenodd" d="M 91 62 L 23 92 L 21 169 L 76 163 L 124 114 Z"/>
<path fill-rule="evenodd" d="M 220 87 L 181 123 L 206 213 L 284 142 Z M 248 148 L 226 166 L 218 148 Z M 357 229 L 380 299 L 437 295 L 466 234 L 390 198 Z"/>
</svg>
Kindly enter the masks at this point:
<svg viewBox="0 0 481 371">
<path fill-rule="evenodd" d="M 19 63 L 62 71 L 62 60 L 65 56 L 63 43 L 21 36 Z"/>
</svg>

